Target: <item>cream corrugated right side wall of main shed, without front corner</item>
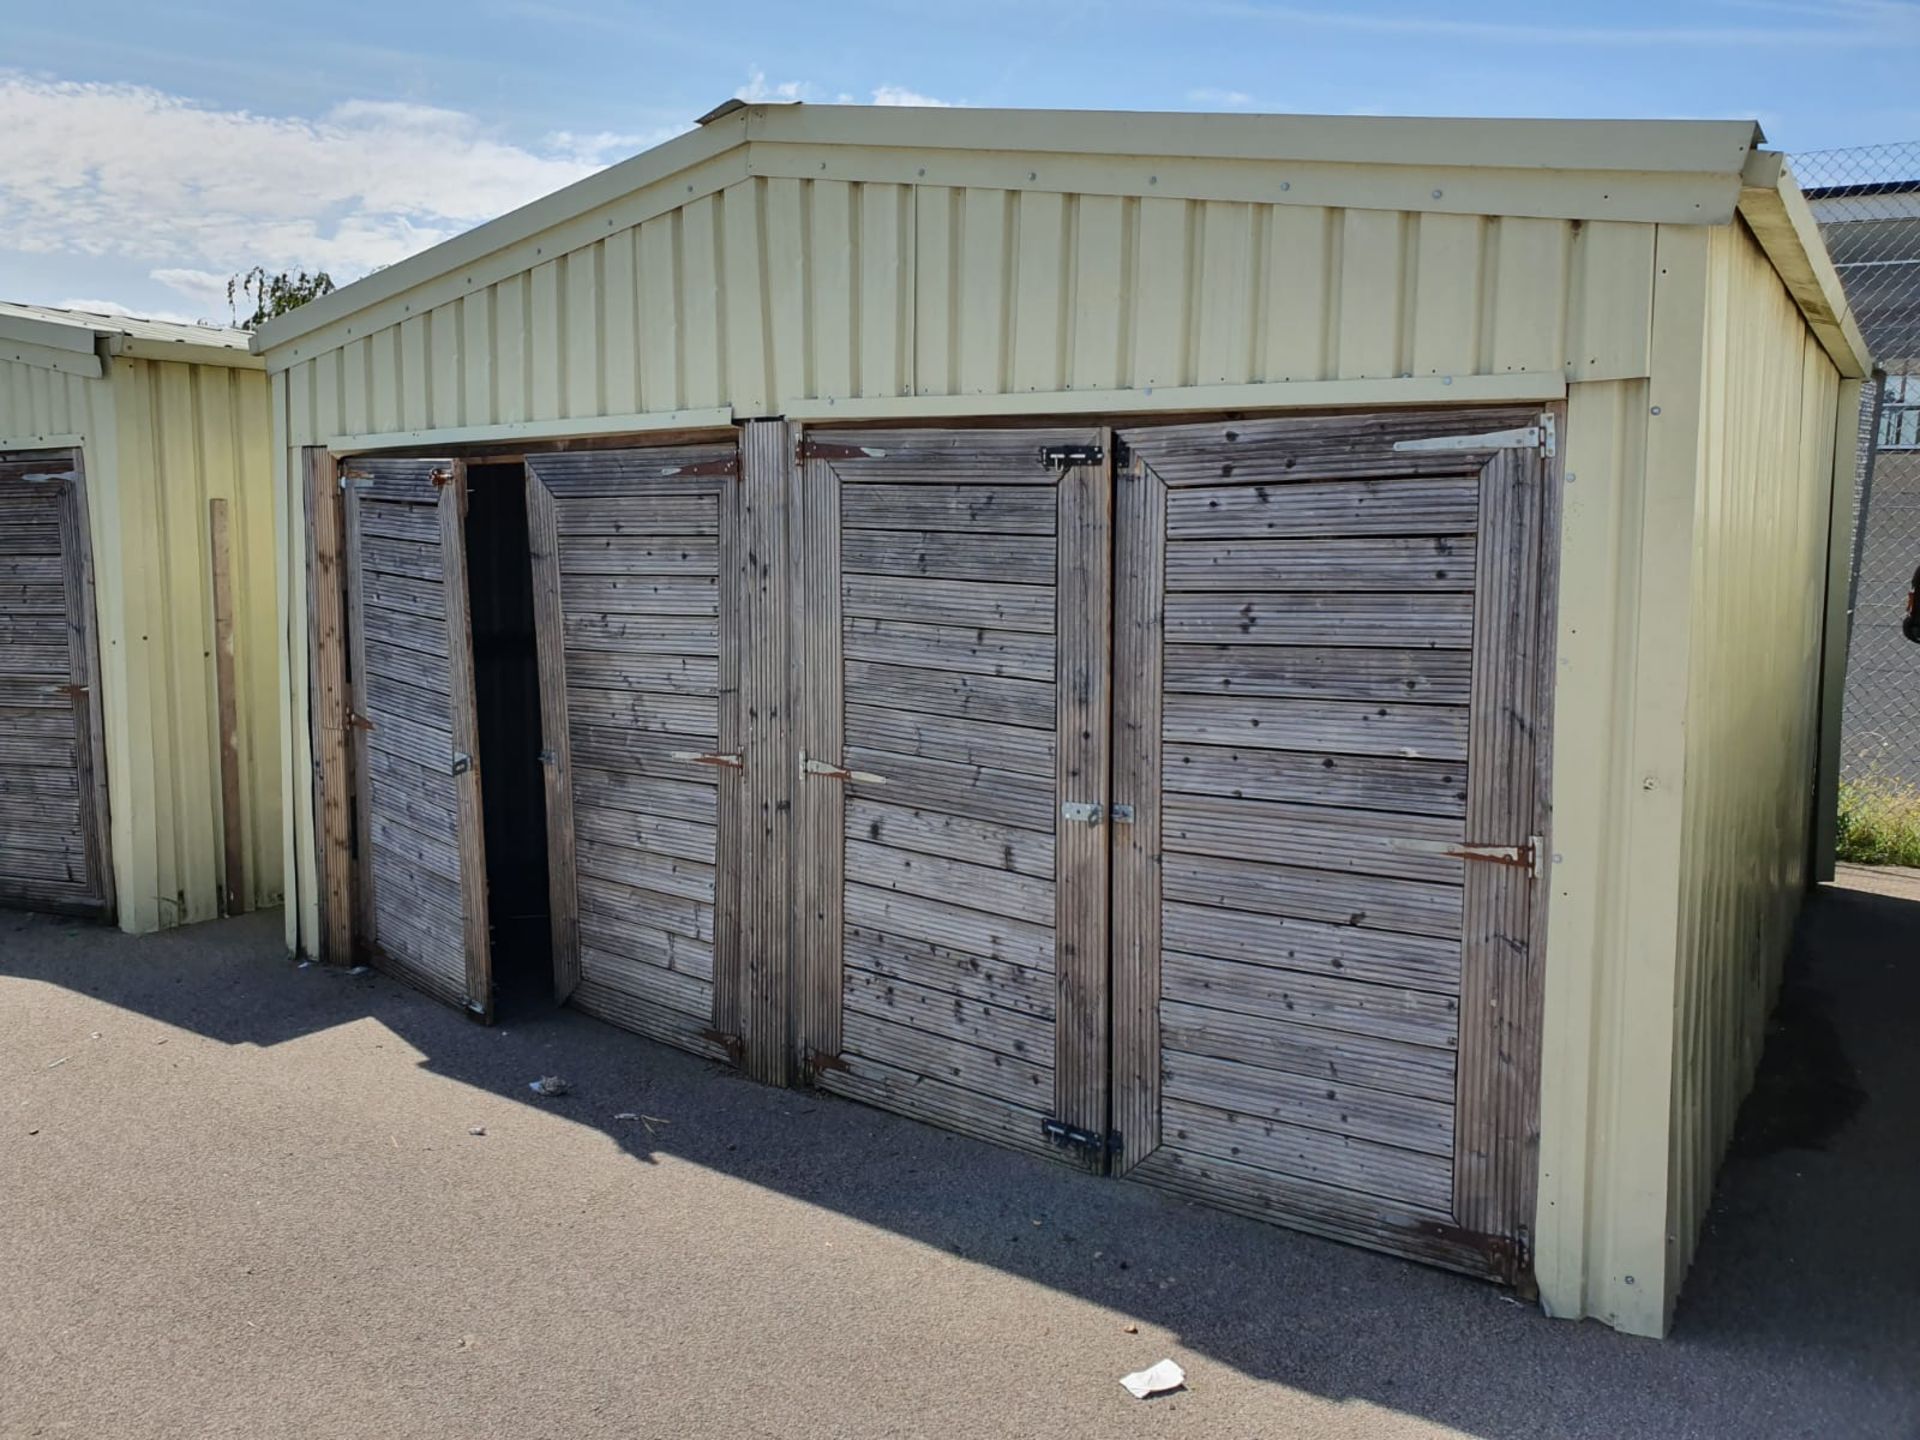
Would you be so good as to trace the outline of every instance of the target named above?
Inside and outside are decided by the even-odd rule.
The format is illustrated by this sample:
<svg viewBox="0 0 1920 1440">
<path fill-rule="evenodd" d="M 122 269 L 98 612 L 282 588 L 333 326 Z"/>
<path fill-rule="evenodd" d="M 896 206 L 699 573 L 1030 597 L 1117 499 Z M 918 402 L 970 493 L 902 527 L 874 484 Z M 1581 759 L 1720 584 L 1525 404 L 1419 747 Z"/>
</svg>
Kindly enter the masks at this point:
<svg viewBox="0 0 1920 1440">
<path fill-rule="evenodd" d="M 1839 374 L 1745 227 L 1713 232 L 1686 732 L 1668 1292 L 1753 1083 L 1807 883 Z"/>
</svg>

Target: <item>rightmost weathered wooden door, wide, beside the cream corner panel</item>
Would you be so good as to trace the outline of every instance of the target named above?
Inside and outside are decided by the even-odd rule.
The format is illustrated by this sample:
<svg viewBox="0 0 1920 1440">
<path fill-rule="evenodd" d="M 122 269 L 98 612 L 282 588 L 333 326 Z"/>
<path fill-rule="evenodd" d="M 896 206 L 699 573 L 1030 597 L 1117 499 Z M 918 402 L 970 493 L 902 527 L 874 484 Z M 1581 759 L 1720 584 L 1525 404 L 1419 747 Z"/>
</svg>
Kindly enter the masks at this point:
<svg viewBox="0 0 1920 1440">
<path fill-rule="evenodd" d="M 1450 411 L 1123 436 L 1117 1169 L 1523 1275 L 1540 432 Z"/>
</svg>

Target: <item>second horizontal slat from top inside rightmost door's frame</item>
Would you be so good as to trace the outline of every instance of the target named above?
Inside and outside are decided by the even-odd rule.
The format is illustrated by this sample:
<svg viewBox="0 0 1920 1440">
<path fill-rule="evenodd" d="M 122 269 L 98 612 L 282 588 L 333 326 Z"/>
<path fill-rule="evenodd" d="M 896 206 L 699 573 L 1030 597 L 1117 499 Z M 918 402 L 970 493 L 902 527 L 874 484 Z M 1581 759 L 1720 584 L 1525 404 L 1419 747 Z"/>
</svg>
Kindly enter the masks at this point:
<svg viewBox="0 0 1920 1440">
<path fill-rule="evenodd" d="M 1473 589 L 1473 536 L 1183 540 L 1167 589 Z"/>
</svg>

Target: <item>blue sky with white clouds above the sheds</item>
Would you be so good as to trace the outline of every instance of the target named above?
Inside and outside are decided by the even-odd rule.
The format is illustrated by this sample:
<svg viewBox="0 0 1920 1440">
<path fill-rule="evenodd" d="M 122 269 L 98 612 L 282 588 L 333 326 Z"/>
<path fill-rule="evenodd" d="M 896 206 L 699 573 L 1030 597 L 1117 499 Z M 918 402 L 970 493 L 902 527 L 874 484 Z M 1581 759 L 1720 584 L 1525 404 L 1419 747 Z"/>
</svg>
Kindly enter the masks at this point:
<svg viewBox="0 0 1920 1440">
<path fill-rule="evenodd" d="M 0 298 L 180 319 L 253 263 L 401 259 L 730 94 L 1920 138 L 1920 0 L 0 0 Z"/>
</svg>

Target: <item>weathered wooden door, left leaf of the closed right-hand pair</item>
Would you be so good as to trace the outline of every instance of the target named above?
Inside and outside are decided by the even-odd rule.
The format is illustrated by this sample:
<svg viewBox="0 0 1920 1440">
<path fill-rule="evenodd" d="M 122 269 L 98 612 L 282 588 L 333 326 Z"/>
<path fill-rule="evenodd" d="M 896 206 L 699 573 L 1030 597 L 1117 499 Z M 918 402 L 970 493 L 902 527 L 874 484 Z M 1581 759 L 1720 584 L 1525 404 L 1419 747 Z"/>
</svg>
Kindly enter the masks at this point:
<svg viewBox="0 0 1920 1440">
<path fill-rule="evenodd" d="M 795 1023 L 824 1089 L 1104 1165 L 1102 434 L 810 434 Z M 1062 818 L 1069 816 L 1069 818 Z"/>
</svg>

